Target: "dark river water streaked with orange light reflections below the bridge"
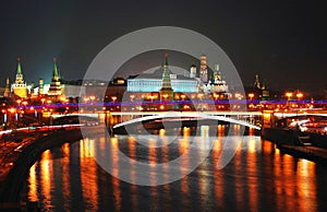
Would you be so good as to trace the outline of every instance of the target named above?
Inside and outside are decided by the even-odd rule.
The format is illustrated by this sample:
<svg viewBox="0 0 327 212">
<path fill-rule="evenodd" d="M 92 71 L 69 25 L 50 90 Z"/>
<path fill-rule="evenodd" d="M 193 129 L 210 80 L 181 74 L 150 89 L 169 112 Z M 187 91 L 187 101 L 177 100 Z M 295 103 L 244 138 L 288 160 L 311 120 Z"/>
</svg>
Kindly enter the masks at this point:
<svg viewBox="0 0 327 212">
<path fill-rule="evenodd" d="M 165 140 L 161 132 L 157 137 Z M 154 146 L 158 142 L 154 138 L 148 139 L 148 145 L 137 143 L 137 139 L 86 138 L 48 150 L 31 167 L 22 193 L 29 201 L 38 201 L 43 211 L 327 211 L 327 166 L 281 154 L 271 142 L 256 136 L 232 137 L 238 141 L 237 151 L 221 169 L 217 163 L 226 151 L 221 143 L 225 137 L 215 138 L 208 157 L 196 169 L 159 186 L 125 182 L 96 162 L 96 155 L 111 151 L 106 158 L 113 167 L 111 173 L 118 176 L 125 168 L 137 177 L 132 165 L 120 167 L 116 151 L 148 164 L 186 154 L 180 167 L 173 167 L 180 173 L 191 160 L 199 158 L 187 158 L 190 137 L 161 148 Z M 197 148 L 201 155 L 208 146 Z M 154 169 L 155 182 L 157 175 Z M 161 179 L 165 177 L 170 176 Z"/>
</svg>

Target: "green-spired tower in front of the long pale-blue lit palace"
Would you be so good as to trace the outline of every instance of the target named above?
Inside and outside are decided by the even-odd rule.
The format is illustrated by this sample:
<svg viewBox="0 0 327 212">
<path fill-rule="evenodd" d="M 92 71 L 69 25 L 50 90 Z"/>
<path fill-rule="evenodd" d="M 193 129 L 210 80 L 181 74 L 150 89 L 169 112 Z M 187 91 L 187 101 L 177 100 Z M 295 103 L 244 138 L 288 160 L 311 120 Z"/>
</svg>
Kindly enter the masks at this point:
<svg viewBox="0 0 327 212">
<path fill-rule="evenodd" d="M 170 71 L 168 69 L 168 54 L 166 52 L 166 61 L 164 64 L 164 72 L 162 72 L 162 83 L 160 93 L 160 101 L 172 101 L 173 99 L 173 90 L 171 89 L 171 81 L 170 81 Z"/>
</svg>

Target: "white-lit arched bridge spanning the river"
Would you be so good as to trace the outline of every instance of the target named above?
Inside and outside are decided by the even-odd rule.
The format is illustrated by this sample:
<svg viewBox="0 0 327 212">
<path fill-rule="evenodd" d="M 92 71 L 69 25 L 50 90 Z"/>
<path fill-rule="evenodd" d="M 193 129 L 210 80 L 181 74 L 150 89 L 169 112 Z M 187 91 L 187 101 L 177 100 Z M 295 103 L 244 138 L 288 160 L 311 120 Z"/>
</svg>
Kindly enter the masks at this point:
<svg viewBox="0 0 327 212">
<path fill-rule="evenodd" d="M 264 115 L 264 116 L 263 116 Z M 108 121 L 110 127 L 116 129 L 122 129 L 123 127 L 137 125 L 142 122 L 150 122 L 158 119 L 166 119 L 166 121 L 187 121 L 187 120 L 217 120 L 223 122 L 230 122 L 240 125 L 256 130 L 261 130 L 256 120 L 262 123 L 265 121 L 265 115 L 263 111 L 99 111 L 99 113 L 83 113 L 83 114 L 68 114 L 68 115 L 52 115 L 53 119 L 60 117 L 89 117 L 98 119 L 99 121 Z M 327 116 L 326 111 L 314 111 L 314 113 L 272 113 L 267 114 L 275 120 L 295 117 L 295 116 Z M 170 120 L 168 120 L 170 119 Z M 164 120 L 165 121 L 165 120 Z"/>
</svg>

